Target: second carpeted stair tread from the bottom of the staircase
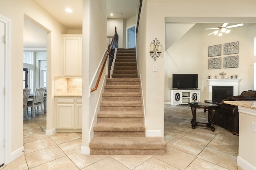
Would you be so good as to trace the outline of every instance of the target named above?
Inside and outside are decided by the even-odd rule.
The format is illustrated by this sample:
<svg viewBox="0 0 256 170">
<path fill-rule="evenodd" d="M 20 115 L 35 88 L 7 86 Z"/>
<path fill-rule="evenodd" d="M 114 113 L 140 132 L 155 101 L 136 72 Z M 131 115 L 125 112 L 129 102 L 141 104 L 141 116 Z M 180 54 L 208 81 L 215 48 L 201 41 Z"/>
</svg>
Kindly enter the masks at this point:
<svg viewBox="0 0 256 170">
<path fill-rule="evenodd" d="M 98 122 L 93 127 L 93 131 L 101 132 L 145 132 L 144 123 L 105 123 Z"/>
</svg>

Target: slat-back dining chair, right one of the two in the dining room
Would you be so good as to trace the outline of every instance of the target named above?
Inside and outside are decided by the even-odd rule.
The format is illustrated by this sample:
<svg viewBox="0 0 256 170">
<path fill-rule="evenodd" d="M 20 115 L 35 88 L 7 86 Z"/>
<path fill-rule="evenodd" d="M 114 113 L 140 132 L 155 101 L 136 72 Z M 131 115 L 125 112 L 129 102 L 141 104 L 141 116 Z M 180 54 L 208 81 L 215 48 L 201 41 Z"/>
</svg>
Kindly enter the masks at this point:
<svg viewBox="0 0 256 170">
<path fill-rule="evenodd" d="M 44 88 L 36 88 L 33 96 L 33 100 L 28 101 L 27 107 L 31 107 L 31 112 L 33 114 L 33 117 L 36 117 L 35 107 L 38 107 L 38 106 L 41 107 L 41 111 L 44 114 L 44 109 L 43 109 L 44 92 L 45 92 Z M 37 112 L 38 112 L 38 109 L 37 109 Z"/>
</svg>

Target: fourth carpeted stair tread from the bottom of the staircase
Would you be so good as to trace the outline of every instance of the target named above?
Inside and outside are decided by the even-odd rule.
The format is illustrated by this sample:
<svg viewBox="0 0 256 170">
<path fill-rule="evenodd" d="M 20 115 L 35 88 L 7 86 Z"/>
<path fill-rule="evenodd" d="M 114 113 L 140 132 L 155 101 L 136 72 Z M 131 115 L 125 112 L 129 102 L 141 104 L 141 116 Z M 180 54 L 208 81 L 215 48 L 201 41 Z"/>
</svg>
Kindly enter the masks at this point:
<svg viewBox="0 0 256 170">
<path fill-rule="evenodd" d="M 102 101 L 100 106 L 142 106 L 141 101 Z"/>
</svg>

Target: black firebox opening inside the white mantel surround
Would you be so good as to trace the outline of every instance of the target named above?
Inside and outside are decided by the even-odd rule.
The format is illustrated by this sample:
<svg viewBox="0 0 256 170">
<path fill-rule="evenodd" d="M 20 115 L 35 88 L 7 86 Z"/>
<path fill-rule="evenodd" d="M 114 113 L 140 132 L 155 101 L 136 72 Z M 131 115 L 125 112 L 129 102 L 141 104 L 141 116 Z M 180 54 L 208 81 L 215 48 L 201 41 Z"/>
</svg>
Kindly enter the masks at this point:
<svg viewBox="0 0 256 170">
<path fill-rule="evenodd" d="M 233 86 L 212 86 L 212 101 L 221 103 L 229 96 L 234 96 Z"/>
</svg>

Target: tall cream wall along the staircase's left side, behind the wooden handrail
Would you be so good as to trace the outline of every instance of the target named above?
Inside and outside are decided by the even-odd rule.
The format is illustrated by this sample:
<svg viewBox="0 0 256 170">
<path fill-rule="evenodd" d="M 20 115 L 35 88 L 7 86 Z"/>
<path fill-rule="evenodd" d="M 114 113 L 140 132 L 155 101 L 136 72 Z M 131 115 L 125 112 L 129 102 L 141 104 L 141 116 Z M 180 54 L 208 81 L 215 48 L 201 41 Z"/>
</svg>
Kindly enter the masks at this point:
<svg viewBox="0 0 256 170">
<path fill-rule="evenodd" d="M 83 78 L 82 78 L 82 154 L 89 154 L 88 148 L 93 133 L 95 114 L 100 90 L 90 93 L 90 83 L 106 51 L 107 17 L 106 0 L 83 0 Z M 114 35 L 114 34 L 113 34 Z M 98 77 L 96 77 L 98 78 Z M 101 82 L 102 84 L 102 82 Z M 99 85 L 99 89 L 100 86 Z M 95 118 L 95 119 L 94 119 Z"/>
</svg>

